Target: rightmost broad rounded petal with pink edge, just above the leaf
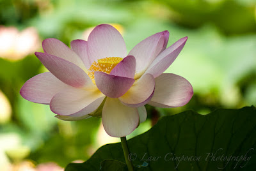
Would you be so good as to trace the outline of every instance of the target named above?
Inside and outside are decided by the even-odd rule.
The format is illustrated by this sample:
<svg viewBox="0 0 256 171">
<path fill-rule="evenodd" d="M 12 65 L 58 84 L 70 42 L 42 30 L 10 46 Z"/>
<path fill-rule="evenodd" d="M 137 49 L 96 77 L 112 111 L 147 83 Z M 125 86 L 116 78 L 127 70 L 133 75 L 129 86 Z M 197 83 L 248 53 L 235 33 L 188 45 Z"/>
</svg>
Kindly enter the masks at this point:
<svg viewBox="0 0 256 171">
<path fill-rule="evenodd" d="M 154 96 L 148 103 L 154 107 L 181 107 L 193 96 L 193 87 L 183 77 L 172 73 L 163 73 L 156 79 Z"/>
</svg>

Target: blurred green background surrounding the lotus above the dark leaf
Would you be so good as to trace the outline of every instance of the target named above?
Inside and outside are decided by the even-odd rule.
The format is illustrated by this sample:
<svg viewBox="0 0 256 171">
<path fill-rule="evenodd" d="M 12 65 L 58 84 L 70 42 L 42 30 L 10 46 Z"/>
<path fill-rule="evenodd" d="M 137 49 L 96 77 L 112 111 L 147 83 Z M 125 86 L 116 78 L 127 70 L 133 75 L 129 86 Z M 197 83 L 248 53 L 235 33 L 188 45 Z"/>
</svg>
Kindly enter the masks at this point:
<svg viewBox="0 0 256 171">
<path fill-rule="evenodd" d="M 179 108 L 147 106 L 147 121 L 131 138 L 163 115 L 255 105 L 255 21 L 255 0 L 0 0 L 0 170 L 63 170 L 119 140 L 106 135 L 100 118 L 60 121 L 49 106 L 20 96 L 26 80 L 47 71 L 34 55 L 43 52 L 45 38 L 69 46 L 72 40 L 86 40 L 98 24 L 111 24 L 129 52 L 160 31 L 170 32 L 168 47 L 188 36 L 166 72 L 189 80 L 193 98 Z"/>
</svg>

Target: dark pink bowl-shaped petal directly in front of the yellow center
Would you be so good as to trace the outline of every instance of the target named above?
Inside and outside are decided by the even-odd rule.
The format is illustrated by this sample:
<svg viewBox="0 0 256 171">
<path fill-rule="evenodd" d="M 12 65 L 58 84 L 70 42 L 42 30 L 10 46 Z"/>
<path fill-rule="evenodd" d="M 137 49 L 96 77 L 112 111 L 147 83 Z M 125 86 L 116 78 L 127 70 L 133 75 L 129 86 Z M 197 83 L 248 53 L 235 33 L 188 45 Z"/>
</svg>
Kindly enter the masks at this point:
<svg viewBox="0 0 256 171">
<path fill-rule="evenodd" d="M 108 75 L 100 71 L 95 71 L 94 77 L 98 89 L 110 98 L 123 96 L 134 83 L 133 78 Z"/>
</svg>

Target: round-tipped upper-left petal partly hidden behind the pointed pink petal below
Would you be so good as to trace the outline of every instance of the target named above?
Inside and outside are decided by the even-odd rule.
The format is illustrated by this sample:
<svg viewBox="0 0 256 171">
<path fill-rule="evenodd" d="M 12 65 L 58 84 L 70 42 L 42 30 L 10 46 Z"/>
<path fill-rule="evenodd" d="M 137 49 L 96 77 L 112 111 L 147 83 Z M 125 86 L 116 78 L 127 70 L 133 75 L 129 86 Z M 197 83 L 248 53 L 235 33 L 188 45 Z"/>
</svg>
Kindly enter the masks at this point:
<svg viewBox="0 0 256 171">
<path fill-rule="evenodd" d="M 61 57 L 70 63 L 74 63 L 84 69 L 83 61 L 65 43 L 55 38 L 48 38 L 43 41 L 43 49 L 47 54 Z"/>
</svg>

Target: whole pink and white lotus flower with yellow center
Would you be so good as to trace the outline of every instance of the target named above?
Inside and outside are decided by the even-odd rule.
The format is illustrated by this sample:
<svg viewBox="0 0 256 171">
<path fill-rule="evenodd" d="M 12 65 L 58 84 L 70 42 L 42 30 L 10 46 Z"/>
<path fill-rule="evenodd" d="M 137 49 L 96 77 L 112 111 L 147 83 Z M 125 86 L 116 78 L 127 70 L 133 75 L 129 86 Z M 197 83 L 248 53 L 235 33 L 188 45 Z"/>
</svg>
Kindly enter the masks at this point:
<svg viewBox="0 0 256 171">
<path fill-rule="evenodd" d="M 122 35 L 102 24 L 88 41 L 43 41 L 36 57 L 50 71 L 30 78 L 20 89 L 23 98 L 50 105 L 58 119 L 77 121 L 102 116 L 108 135 L 125 137 L 146 120 L 145 104 L 180 107 L 193 96 L 183 77 L 163 73 L 184 47 L 187 37 L 166 48 L 169 33 L 156 33 L 127 54 Z"/>
</svg>

